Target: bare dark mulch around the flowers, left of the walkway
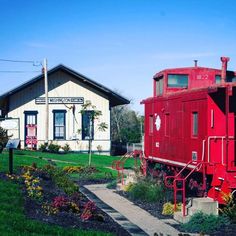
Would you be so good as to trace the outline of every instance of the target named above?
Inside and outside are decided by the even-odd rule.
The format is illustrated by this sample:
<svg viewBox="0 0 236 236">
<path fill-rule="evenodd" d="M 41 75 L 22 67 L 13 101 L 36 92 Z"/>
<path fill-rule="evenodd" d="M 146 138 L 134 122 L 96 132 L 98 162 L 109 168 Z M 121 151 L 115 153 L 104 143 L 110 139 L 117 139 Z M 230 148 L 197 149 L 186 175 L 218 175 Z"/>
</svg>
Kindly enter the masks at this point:
<svg viewBox="0 0 236 236">
<path fill-rule="evenodd" d="M 0 178 L 6 180 L 5 174 L 0 173 Z M 105 180 L 103 180 L 105 182 Z M 66 194 L 59 189 L 52 181 L 51 178 L 41 178 L 40 185 L 43 188 L 43 202 L 52 202 L 57 196 L 65 196 Z M 101 211 L 96 207 L 95 214 L 98 217 L 92 217 L 88 220 L 82 220 L 80 216 L 72 212 L 58 212 L 57 214 L 47 215 L 42 204 L 27 196 L 25 186 L 22 184 L 22 192 L 24 196 L 25 214 L 34 220 L 39 220 L 48 224 L 59 225 L 63 227 L 72 227 L 83 230 L 96 230 L 107 233 L 113 233 L 114 235 L 130 235 L 124 230 L 118 223 L 116 223 L 109 215 Z M 82 193 L 78 193 L 79 205 L 86 204 L 87 199 Z"/>
</svg>

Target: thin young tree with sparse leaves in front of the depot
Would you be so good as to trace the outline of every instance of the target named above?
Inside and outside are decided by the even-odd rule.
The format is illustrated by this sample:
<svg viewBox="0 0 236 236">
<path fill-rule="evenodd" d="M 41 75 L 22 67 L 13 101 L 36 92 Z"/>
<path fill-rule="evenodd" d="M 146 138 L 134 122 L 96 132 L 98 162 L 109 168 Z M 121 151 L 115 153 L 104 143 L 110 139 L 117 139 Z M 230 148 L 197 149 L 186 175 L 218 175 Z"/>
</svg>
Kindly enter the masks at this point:
<svg viewBox="0 0 236 236">
<path fill-rule="evenodd" d="M 99 121 L 99 117 L 102 116 L 102 111 L 97 110 L 96 106 L 92 105 L 91 101 L 85 101 L 85 103 L 82 105 L 81 108 L 81 115 L 85 114 L 86 111 L 89 111 L 89 125 L 86 127 L 86 132 L 88 133 L 88 142 L 89 142 L 89 162 L 88 165 L 91 166 L 91 159 L 92 159 L 92 140 L 95 130 L 104 132 L 107 128 L 108 125 L 105 122 L 100 122 L 97 124 L 96 129 L 93 129 L 93 124 L 95 120 Z M 81 130 L 78 130 L 79 133 Z"/>
</svg>

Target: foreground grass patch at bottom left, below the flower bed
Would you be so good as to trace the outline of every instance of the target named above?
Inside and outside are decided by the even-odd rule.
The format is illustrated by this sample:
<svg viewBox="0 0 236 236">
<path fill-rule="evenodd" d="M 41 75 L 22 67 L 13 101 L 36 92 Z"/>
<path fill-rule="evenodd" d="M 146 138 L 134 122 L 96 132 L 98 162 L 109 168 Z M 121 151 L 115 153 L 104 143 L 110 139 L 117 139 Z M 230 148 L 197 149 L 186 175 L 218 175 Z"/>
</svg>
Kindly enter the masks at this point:
<svg viewBox="0 0 236 236">
<path fill-rule="evenodd" d="M 0 234 L 1 235 L 111 235 L 96 231 L 62 228 L 31 220 L 24 215 L 23 197 L 19 185 L 0 182 Z"/>
</svg>

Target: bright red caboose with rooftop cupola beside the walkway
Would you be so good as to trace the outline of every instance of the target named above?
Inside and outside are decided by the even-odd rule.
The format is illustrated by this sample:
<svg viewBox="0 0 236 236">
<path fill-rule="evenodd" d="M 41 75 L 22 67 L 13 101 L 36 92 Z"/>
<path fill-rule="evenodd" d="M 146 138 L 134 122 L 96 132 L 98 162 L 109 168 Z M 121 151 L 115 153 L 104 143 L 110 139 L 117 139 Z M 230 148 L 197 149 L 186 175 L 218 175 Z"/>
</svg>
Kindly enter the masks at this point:
<svg viewBox="0 0 236 236">
<path fill-rule="evenodd" d="M 153 77 L 153 96 L 141 103 L 144 171 L 158 166 L 174 181 L 175 192 L 185 194 L 192 185 L 223 203 L 222 193 L 236 189 L 236 73 L 227 70 L 229 58 L 221 61 L 221 69 L 195 61 L 193 67 L 160 71 Z"/>
</svg>

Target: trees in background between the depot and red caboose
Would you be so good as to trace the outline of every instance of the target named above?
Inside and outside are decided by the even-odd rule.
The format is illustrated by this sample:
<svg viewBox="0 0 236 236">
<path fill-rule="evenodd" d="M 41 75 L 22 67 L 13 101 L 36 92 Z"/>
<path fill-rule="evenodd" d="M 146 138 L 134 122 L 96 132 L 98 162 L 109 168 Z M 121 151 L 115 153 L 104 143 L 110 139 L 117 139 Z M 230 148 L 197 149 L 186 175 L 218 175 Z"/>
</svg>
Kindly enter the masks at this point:
<svg viewBox="0 0 236 236">
<path fill-rule="evenodd" d="M 116 106 L 111 110 L 111 137 L 113 142 L 139 143 L 143 116 L 129 106 Z"/>
</svg>

